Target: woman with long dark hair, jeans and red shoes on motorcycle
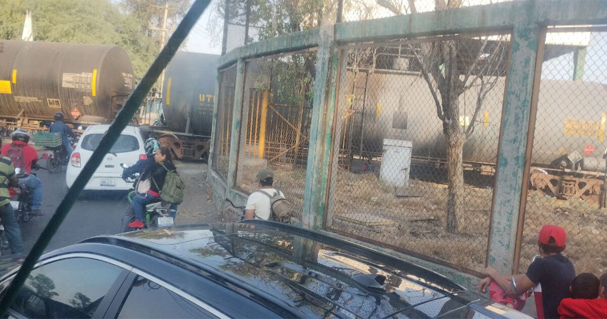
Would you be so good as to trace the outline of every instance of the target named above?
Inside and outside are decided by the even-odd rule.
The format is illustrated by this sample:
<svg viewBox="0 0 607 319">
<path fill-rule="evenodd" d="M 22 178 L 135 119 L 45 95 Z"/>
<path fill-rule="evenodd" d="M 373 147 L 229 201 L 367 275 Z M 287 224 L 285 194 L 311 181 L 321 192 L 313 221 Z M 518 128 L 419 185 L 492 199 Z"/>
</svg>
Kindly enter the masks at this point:
<svg viewBox="0 0 607 319">
<path fill-rule="evenodd" d="M 173 165 L 171 157 L 171 149 L 166 146 L 161 146 L 156 151 L 154 155 L 155 163 L 141 176 L 142 179 L 145 179 L 145 174 L 149 174 L 149 178 L 152 179 L 151 187 L 148 193 L 137 194 L 134 197 L 132 207 L 135 212 L 135 221 L 131 222 L 129 227 L 143 228 L 145 226 L 143 223 L 143 214 L 146 205 L 160 201 L 160 191 L 164 185 L 166 173 L 169 170 L 175 170 L 175 165 Z"/>
</svg>

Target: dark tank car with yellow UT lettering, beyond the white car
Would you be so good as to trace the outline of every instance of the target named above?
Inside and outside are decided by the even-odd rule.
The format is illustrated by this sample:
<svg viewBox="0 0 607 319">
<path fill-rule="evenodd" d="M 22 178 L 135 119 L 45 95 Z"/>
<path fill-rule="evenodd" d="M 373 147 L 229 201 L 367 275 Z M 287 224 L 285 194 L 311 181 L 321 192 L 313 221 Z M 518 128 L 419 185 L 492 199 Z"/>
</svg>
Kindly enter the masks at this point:
<svg viewBox="0 0 607 319">
<path fill-rule="evenodd" d="M 164 74 L 165 128 L 145 129 L 183 159 L 208 154 L 219 55 L 177 52 Z"/>
</svg>

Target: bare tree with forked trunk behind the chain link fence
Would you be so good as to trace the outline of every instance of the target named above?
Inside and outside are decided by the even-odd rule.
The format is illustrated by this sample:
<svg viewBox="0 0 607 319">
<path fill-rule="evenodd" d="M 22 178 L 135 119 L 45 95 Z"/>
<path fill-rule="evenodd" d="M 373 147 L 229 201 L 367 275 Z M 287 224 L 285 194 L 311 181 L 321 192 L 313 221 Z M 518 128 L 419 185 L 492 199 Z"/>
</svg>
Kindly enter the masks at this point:
<svg viewBox="0 0 607 319">
<path fill-rule="evenodd" d="M 416 12 L 415 0 L 403 7 L 399 0 L 377 0 L 377 4 L 399 15 Z M 435 0 L 435 10 L 460 7 L 461 0 Z M 446 230 L 455 233 L 467 224 L 464 208 L 463 149 L 473 134 L 478 114 L 487 93 L 505 75 L 507 60 L 506 36 L 453 37 L 429 39 L 409 45 L 421 77 L 426 81 L 436 106 L 436 115 L 443 122 L 446 142 L 447 197 Z M 472 117 L 461 116 L 459 97 L 464 92 L 476 94 Z"/>
</svg>

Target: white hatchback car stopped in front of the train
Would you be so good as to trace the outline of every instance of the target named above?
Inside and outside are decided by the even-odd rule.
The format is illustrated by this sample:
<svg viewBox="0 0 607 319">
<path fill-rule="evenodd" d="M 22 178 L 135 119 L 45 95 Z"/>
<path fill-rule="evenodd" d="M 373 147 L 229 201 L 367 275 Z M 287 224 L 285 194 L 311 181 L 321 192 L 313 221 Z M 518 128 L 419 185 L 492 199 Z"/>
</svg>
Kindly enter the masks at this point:
<svg viewBox="0 0 607 319">
<path fill-rule="evenodd" d="M 93 151 L 101 142 L 101 139 L 107 134 L 109 125 L 92 125 L 80 137 L 78 145 L 72 153 L 66 170 L 67 187 L 72 187 L 76 176 L 80 174 L 86 162 L 93 155 Z M 141 130 L 135 126 L 127 126 L 121 132 L 120 137 L 112 146 L 97 168 L 97 171 L 90 177 L 89 183 L 84 187 L 85 190 L 129 190 L 132 183 L 124 182 L 122 179 L 122 168 L 120 163 L 133 165 L 137 160 L 145 159 L 143 147 L 143 135 Z"/>
</svg>

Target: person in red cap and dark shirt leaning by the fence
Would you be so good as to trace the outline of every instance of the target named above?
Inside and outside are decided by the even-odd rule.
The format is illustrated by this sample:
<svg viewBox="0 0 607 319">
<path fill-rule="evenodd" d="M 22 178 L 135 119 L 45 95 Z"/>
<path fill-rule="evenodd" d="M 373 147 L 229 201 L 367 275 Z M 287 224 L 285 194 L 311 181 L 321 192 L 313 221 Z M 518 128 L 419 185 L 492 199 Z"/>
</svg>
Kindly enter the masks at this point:
<svg viewBox="0 0 607 319">
<path fill-rule="evenodd" d="M 571 261 L 561 252 L 565 250 L 567 234 L 561 227 L 545 225 L 538 236 L 541 258 L 531 263 L 524 275 L 502 276 L 492 267 L 487 267 L 486 276 L 478 286 L 479 292 L 486 292 L 492 281 L 511 297 L 516 297 L 541 284 L 542 309 L 538 309 L 538 318 L 558 318 L 558 304 L 569 297 L 569 286 L 575 278 L 575 269 Z M 514 279 L 515 287 L 510 287 Z"/>
</svg>

